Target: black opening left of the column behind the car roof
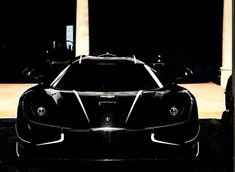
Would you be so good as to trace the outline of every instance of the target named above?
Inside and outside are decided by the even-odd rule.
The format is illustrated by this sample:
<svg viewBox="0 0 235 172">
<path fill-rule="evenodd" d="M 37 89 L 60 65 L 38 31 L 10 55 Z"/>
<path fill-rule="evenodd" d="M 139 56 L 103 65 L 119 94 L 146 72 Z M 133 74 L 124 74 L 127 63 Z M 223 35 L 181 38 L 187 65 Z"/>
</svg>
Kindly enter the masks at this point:
<svg viewBox="0 0 235 172">
<path fill-rule="evenodd" d="M 67 58 L 66 26 L 75 19 L 76 0 L 1 1 L 0 82 L 24 82 L 22 70 L 44 68 L 53 46 Z"/>
</svg>

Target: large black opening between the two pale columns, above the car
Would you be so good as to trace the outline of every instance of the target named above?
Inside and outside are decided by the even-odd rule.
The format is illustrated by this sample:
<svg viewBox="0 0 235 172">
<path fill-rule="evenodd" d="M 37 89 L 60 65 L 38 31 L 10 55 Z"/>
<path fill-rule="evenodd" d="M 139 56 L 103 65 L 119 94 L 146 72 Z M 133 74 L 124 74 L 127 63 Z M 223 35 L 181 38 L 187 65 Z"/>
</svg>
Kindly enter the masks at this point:
<svg viewBox="0 0 235 172">
<path fill-rule="evenodd" d="M 195 81 L 217 81 L 223 0 L 90 0 L 91 54 L 163 55 L 172 68 L 193 68 Z"/>
</svg>

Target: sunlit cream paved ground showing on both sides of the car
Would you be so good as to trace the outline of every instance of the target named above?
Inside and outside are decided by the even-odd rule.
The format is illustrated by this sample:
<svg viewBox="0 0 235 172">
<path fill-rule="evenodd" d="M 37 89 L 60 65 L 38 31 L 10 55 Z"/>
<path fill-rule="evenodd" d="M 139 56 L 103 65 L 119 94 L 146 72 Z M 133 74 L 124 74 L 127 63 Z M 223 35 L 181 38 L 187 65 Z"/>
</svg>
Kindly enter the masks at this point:
<svg viewBox="0 0 235 172">
<path fill-rule="evenodd" d="M 0 84 L 0 118 L 15 118 L 20 95 L 35 84 Z M 225 110 L 224 88 L 214 83 L 180 84 L 198 102 L 199 118 L 220 119 Z"/>
</svg>

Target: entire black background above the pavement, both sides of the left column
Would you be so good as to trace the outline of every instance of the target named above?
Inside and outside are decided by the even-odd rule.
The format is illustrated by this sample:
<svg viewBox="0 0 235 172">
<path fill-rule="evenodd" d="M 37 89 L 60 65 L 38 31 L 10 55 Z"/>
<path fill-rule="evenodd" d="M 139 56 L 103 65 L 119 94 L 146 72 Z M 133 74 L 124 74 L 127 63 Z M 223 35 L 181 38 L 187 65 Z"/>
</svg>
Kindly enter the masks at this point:
<svg viewBox="0 0 235 172">
<path fill-rule="evenodd" d="M 172 71 L 192 68 L 194 82 L 218 82 L 222 14 L 223 0 L 89 0 L 90 54 L 146 62 L 161 54 Z M 25 67 L 42 68 L 48 58 L 66 60 L 65 26 L 75 19 L 76 0 L 1 1 L 0 82 L 22 82 Z"/>
</svg>

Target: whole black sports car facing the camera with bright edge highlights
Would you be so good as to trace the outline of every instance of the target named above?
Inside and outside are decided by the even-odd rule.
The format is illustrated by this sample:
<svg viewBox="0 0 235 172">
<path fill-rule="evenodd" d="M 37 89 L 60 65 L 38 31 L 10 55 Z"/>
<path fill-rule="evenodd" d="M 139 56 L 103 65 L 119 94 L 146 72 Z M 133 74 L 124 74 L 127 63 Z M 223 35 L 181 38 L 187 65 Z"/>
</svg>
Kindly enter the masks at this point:
<svg viewBox="0 0 235 172">
<path fill-rule="evenodd" d="M 158 160 L 199 154 L 197 103 L 135 57 L 81 56 L 19 100 L 26 158 Z"/>
</svg>

